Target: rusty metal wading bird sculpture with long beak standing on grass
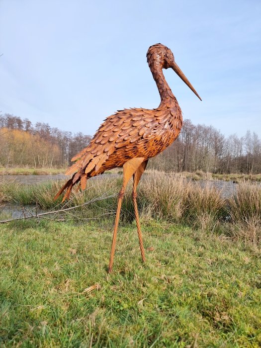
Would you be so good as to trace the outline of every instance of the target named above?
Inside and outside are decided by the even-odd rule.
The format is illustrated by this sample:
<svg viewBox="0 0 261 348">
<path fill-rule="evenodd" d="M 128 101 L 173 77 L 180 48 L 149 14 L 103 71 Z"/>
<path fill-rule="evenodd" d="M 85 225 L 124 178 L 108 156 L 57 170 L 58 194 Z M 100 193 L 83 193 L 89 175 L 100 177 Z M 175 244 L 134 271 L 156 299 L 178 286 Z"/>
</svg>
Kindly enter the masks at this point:
<svg viewBox="0 0 261 348">
<path fill-rule="evenodd" d="M 174 61 L 172 51 L 158 43 L 149 48 L 147 62 L 161 96 L 157 109 L 131 108 L 119 110 L 108 116 L 100 125 L 94 137 L 83 149 L 72 158 L 76 163 L 66 172 L 73 174 L 55 196 L 67 190 L 63 201 L 69 198 L 72 187 L 79 184 L 84 190 L 88 178 L 102 174 L 112 168 L 123 167 L 123 184 L 118 196 L 118 204 L 114 222 L 112 246 L 108 271 L 112 270 L 116 235 L 121 210 L 121 203 L 128 181 L 133 176 L 133 205 L 137 223 L 142 260 L 145 252 L 137 208 L 137 185 L 146 169 L 148 160 L 170 146 L 177 138 L 182 126 L 181 109 L 163 75 L 163 69 L 172 68 L 181 80 L 198 96 L 194 87 Z"/>
</svg>

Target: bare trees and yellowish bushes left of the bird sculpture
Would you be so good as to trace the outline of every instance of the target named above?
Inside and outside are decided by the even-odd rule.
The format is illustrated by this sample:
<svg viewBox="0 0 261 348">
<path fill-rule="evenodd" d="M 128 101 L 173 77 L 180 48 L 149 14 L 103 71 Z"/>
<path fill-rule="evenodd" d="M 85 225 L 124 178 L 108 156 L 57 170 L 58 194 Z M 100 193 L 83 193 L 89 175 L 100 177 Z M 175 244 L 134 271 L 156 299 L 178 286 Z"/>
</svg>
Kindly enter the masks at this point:
<svg viewBox="0 0 261 348">
<path fill-rule="evenodd" d="M 61 131 L 48 123 L 32 124 L 10 114 L 0 115 L 0 167 L 67 167 L 91 137 Z"/>
</svg>

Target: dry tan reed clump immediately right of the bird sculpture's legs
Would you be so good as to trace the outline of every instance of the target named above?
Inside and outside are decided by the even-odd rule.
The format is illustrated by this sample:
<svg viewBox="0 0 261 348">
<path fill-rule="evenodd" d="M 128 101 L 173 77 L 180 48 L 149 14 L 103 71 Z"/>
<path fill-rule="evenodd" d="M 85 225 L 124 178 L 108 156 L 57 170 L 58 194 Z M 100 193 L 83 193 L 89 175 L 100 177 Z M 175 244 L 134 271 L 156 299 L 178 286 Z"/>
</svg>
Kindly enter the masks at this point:
<svg viewBox="0 0 261 348">
<path fill-rule="evenodd" d="M 226 202 L 217 188 L 188 181 L 180 174 L 149 174 L 139 187 L 143 214 L 213 229 L 226 214 Z"/>
</svg>

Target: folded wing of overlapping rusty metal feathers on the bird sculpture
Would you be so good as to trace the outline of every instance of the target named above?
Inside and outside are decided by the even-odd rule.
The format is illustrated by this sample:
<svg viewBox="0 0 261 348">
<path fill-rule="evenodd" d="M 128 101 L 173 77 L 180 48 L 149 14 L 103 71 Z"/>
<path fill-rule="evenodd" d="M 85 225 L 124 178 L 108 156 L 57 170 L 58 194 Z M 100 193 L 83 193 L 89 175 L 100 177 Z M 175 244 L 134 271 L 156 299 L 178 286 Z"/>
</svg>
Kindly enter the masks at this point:
<svg viewBox="0 0 261 348">
<path fill-rule="evenodd" d="M 126 147 L 131 151 L 133 143 L 137 143 L 138 152 L 143 155 L 148 152 L 143 144 L 154 134 L 159 136 L 165 131 L 165 124 L 170 118 L 170 110 L 124 109 L 107 117 L 100 125 L 87 148 L 72 158 L 77 161 L 66 174 L 81 170 L 82 174 L 91 171 L 96 173 L 109 160 L 110 156 L 119 149 Z M 122 151 L 121 151 L 122 153 Z M 133 157 L 138 157 L 135 154 Z M 79 173 L 80 174 L 80 173 Z"/>
</svg>

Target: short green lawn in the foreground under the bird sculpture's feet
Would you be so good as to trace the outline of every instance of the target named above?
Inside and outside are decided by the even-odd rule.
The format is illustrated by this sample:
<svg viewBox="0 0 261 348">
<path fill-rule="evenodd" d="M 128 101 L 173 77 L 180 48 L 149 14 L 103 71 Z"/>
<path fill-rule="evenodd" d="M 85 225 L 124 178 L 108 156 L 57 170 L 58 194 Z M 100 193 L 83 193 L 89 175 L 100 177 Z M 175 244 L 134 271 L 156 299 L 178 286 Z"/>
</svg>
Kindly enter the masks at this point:
<svg viewBox="0 0 261 348">
<path fill-rule="evenodd" d="M 126 224 L 108 275 L 111 222 L 0 225 L 0 346 L 260 347 L 260 252 L 164 221 L 142 228 L 146 264 Z"/>
</svg>

